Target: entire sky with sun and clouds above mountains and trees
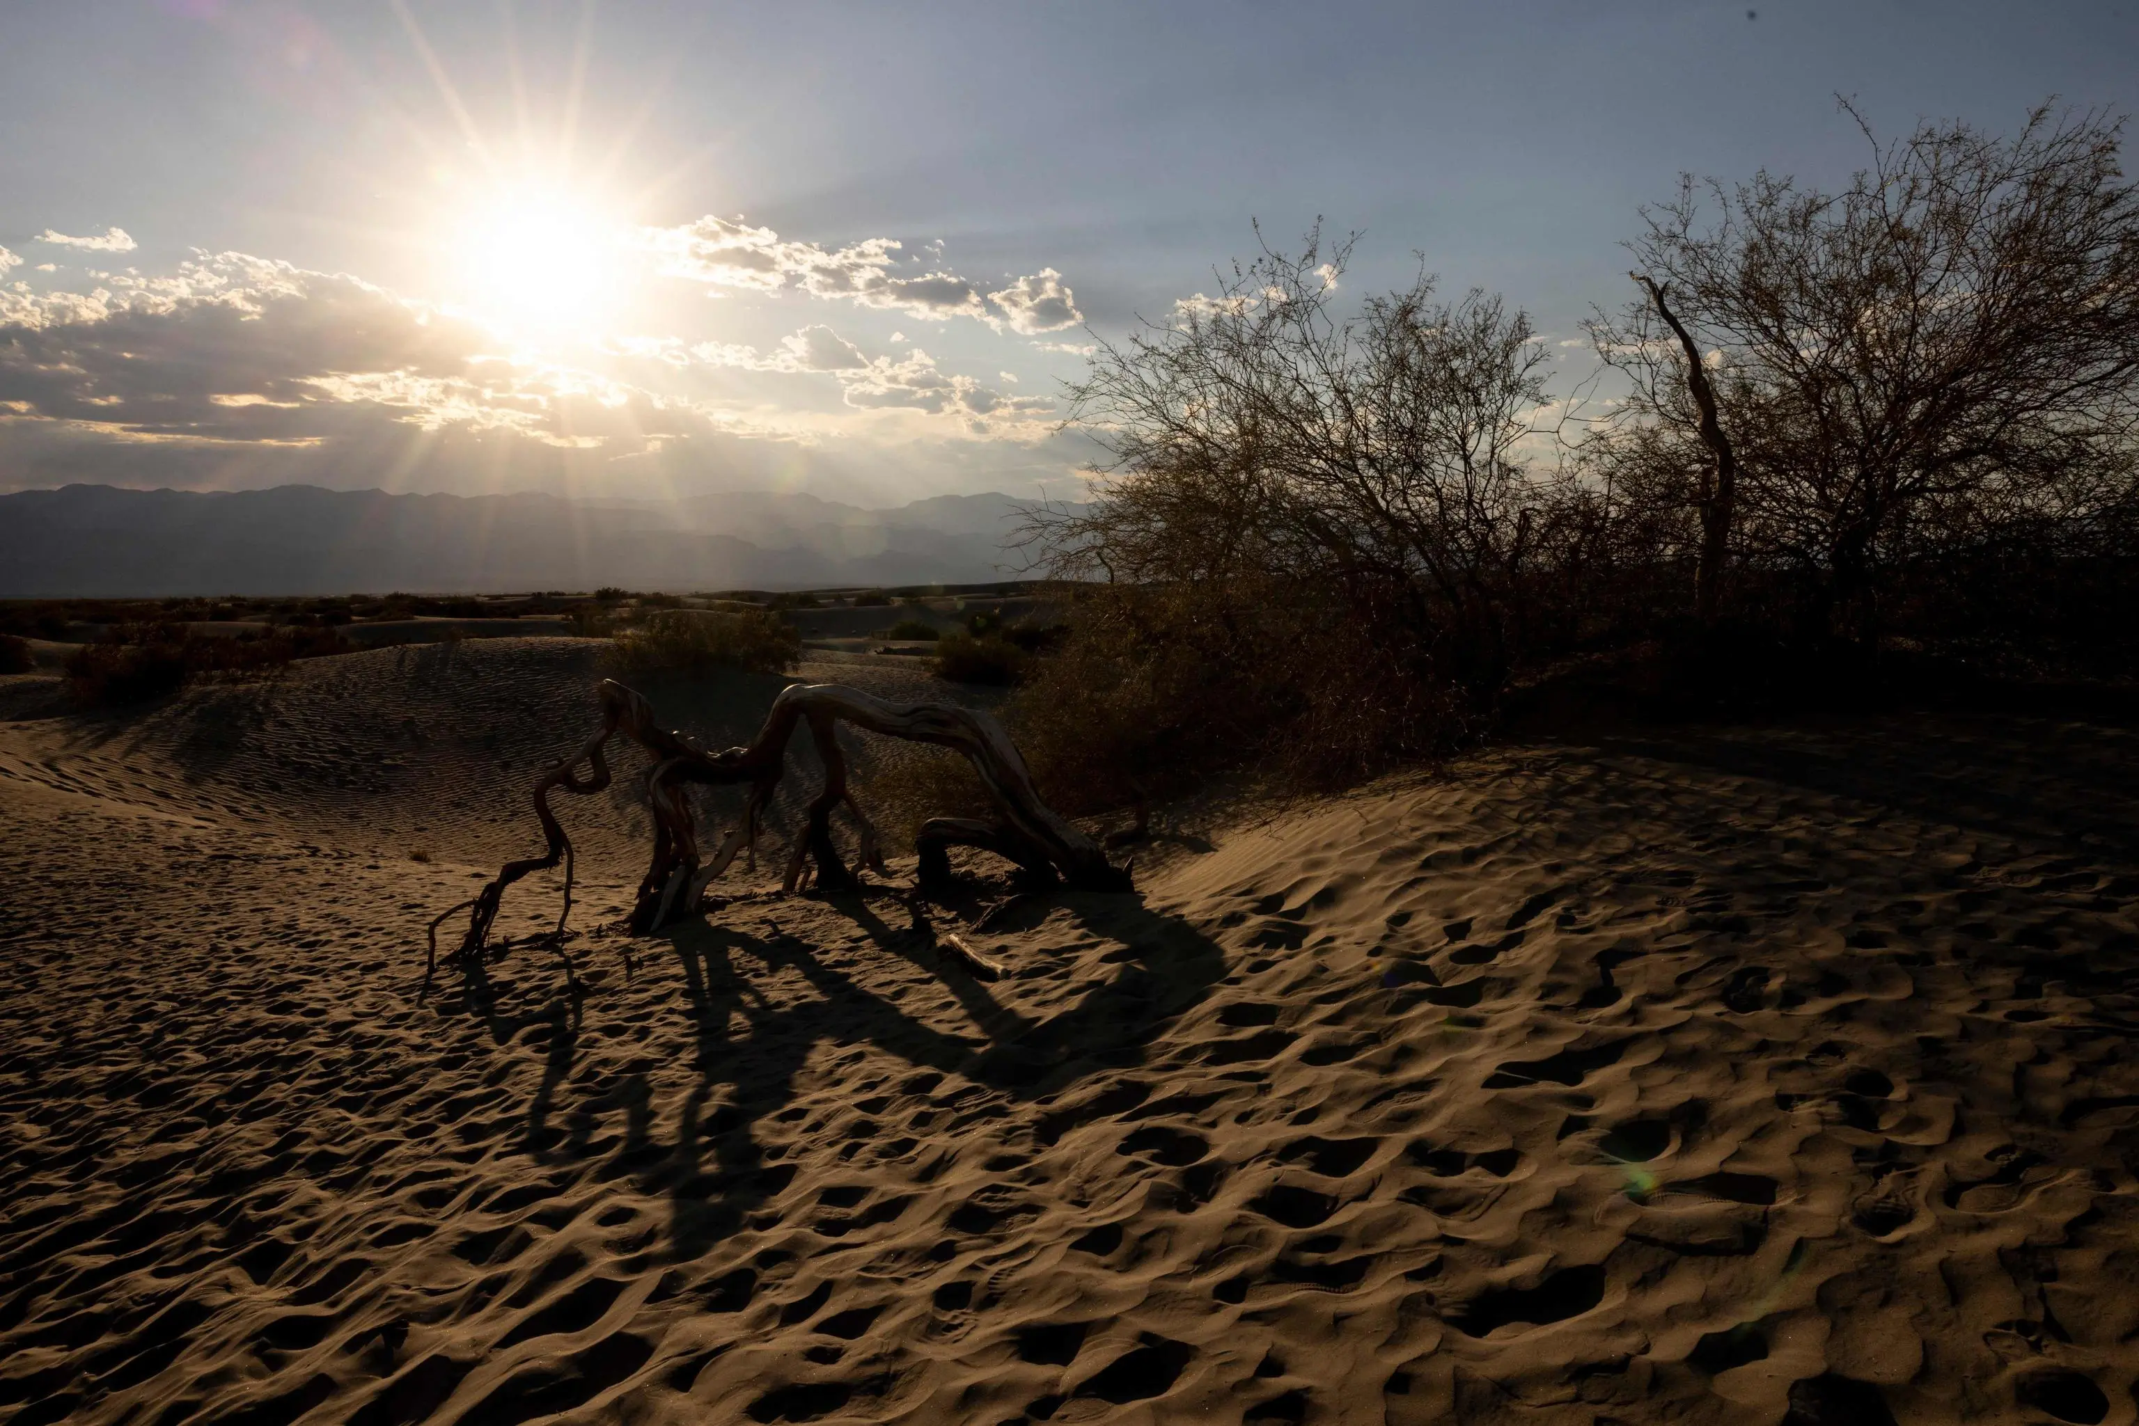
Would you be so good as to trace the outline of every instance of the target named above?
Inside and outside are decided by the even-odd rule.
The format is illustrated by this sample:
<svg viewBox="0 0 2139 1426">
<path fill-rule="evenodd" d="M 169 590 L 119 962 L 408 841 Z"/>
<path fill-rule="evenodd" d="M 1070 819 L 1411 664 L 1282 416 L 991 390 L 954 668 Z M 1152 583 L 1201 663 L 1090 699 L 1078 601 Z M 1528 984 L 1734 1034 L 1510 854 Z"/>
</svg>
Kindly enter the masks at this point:
<svg viewBox="0 0 2139 1426">
<path fill-rule="evenodd" d="M 1566 396 L 1679 173 L 2135 60 L 2053 0 L 0 0 L 0 490 L 1070 496 L 1065 383 L 1258 224 L 1504 293 Z"/>
</svg>

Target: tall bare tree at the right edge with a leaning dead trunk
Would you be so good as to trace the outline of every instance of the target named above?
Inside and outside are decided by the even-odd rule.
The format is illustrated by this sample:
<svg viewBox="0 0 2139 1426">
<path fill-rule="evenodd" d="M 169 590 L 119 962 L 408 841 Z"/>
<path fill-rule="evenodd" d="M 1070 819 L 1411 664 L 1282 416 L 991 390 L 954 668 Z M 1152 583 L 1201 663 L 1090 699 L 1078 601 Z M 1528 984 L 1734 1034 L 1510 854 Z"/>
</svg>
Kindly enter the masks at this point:
<svg viewBox="0 0 2139 1426">
<path fill-rule="evenodd" d="M 2130 487 L 2122 120 L 2043 107 L 2015 139 L 1865 137 L 1840 192 L 1683 180 L 1630 244 L 1643 299 L 1589 323 L 1630 378 L 1600 436 L 1628 487 L 1698 509 L 1703 614 L 1730 554 L 1805 575 L 1825 626 L 1869 639 L 1910 560 Z"/>
</svg>

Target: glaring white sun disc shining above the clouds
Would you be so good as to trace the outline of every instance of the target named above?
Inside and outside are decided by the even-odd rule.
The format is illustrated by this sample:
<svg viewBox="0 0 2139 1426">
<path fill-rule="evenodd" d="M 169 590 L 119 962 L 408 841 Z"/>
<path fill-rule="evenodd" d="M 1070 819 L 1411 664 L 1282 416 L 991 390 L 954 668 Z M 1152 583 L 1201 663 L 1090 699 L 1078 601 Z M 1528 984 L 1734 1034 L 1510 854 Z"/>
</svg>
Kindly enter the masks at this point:
<svg viewBox="0 0 2139 1426">
<path fill-rule="evenodd" d="M 460 306 L 518 336 L 590 336 L 622 297 L 625 231 L 593 195 L 518 184 L 447 224 Z"/>
</svg>

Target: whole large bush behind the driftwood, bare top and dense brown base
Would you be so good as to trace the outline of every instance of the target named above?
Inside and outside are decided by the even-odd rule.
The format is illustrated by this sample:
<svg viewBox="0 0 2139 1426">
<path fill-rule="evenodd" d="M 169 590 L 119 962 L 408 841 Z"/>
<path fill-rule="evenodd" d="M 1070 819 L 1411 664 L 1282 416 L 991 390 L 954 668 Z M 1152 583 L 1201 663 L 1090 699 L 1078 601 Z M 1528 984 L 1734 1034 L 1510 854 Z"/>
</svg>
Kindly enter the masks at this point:
<svg viewBox="0 0 2139 1426">
<path fill-rule="evenodd" d="M 1102 588 L 1067 635 L 984 637 L 1059 646 L 1016 708 L 1080 797 L 1433 753 L 1532 652 L 1532 590 L 1576 528 L 1568 483 L 1529 464 L 1546 353 L 1523 312 L 1444 301 L 1427 274 L 1345 316 L 1345 257 L 1264 250 L 1072 389 L 1110 462 L 1027 532 Z"/>
</svg>

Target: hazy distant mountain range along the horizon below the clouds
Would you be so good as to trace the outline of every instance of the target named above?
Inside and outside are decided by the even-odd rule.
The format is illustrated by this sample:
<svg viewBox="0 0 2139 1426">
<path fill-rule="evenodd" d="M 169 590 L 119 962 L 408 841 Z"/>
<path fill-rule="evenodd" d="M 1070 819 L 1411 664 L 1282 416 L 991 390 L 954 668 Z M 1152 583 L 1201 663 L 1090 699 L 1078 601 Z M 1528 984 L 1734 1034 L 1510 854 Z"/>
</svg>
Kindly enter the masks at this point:
<svg viewBox="0 0 2139 1426">
<path fill-rule="evenodd" d="M 0 599 L 978 584 L 1020 573 L 1018 507 L 66 485 L 0 496 Z"/>
</svg>

